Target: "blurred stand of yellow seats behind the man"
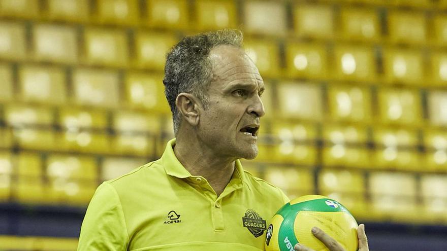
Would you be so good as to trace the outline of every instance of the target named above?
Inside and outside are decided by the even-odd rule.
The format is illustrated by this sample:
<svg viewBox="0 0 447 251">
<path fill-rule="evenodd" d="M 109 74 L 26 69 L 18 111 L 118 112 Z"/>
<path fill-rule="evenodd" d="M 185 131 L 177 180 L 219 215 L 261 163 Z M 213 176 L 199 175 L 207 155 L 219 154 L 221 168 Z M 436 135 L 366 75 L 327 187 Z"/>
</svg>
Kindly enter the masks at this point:
<svg viewBox="0 0 447 251">
<path fill-rule="evenodd" d="M 167 50 L 226 27 L 267 88 L 246 169 L 371 251 L 447 250 L 447 0 L 0 0 L 0 250 L 75 250 L 95 188 L 173 137 Z"/>
</svg>

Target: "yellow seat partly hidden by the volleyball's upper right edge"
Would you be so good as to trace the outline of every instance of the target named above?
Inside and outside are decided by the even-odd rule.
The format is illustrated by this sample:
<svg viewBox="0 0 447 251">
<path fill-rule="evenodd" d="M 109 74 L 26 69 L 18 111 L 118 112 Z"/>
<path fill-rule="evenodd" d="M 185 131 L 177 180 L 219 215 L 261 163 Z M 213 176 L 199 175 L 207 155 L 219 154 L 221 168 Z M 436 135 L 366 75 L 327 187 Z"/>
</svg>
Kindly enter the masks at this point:
<svg viewBox="0 0 447 251">
<path fill-rule="evenodd" d="M 318 173 L 318 191 L 342 203 L 355 216 L 365 212 L 365 178 L 358 171 L 323 169 Z"/>
</svg>

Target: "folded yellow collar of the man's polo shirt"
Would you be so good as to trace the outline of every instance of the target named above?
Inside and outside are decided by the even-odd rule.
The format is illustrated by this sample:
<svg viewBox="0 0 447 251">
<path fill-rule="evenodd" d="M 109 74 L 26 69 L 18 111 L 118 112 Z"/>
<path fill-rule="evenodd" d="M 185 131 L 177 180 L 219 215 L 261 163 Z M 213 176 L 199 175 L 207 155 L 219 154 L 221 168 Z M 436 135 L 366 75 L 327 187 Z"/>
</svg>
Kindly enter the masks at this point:
<svg viewBox="0 0 447 251">
<path fill-rule="evenodd" d="M 191 177 L 191 173 L 178 161 L 174 154 L 173 147 L 175 146 L 175 138 L 168 141 L 166 145 L 165 152 L 162 155 L 163 166 L 165 168 L 166 174 L 178 177 L 187 178 Z M 245 183 L 245 173 L 242 168 L 242 164 L 239 160 L 235 161 L 234 173 L 231 177 L 230 184 L 236 187 L 240 187 Z"/>
</svg>

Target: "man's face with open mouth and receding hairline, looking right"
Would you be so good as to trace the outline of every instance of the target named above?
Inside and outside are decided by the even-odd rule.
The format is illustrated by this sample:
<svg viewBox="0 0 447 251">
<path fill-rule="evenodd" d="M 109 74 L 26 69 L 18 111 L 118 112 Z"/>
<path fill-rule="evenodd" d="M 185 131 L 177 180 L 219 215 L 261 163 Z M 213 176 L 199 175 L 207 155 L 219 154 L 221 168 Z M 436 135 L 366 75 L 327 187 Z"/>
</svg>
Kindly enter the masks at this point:
<svg viewBox="0 0 447 251">
<path fill-rule="evenodd" d="M 265 113 L 260 98 L 264 82 L 241 49 L 217 46 L 210 58 L 213 80 L 209 105 L 200 113 L 199 137 L 216 155 L 253 159 L 258 155 L 257 134 Z"/>
</svg>

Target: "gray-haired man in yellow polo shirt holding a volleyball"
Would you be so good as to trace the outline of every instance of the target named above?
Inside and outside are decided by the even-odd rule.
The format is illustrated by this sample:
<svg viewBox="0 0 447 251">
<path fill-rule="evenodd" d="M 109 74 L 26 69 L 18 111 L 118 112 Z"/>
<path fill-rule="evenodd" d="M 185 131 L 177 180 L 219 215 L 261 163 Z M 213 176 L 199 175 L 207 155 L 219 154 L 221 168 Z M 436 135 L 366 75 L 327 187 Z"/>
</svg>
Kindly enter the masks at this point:
<svg viewBox="0 0 447 251">
<path fill-rule="evenodd" d="M 175 139 L 161 159 L 98 188 L 78 250 L 264 250 L 266 226 L 288 198 L 239 161 L 257 156 L 265 113 L 263 80 L 241 48 L 242 34 L 223 30 L 169 52 L 163 83 Z"/>
</svg>

